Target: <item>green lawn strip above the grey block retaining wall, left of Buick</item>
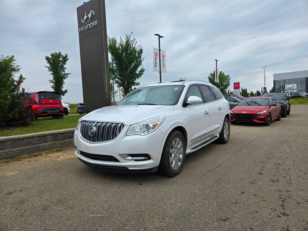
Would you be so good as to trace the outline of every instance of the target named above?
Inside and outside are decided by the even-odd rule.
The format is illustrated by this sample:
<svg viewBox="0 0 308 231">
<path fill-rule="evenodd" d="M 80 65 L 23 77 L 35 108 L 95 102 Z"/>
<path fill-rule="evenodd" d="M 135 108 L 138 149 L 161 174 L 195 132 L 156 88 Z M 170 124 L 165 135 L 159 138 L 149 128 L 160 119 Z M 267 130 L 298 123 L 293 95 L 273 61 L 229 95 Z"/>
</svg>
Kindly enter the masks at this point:
<svg viewBox="0 0 308 231">
<path fill-rule="evenodd" d="M 52 117 L 38 118 L 32 124 L 20 127 L 0 128 L 1 136 L 14 136 L 29 134 L 34 132 L 47 132 L 53 130 L 60 130 L 66 128 L 75 128 L 77 121 L 83 115 L 65 115 L 61 119 L 54 119 Z"/>
</svg>

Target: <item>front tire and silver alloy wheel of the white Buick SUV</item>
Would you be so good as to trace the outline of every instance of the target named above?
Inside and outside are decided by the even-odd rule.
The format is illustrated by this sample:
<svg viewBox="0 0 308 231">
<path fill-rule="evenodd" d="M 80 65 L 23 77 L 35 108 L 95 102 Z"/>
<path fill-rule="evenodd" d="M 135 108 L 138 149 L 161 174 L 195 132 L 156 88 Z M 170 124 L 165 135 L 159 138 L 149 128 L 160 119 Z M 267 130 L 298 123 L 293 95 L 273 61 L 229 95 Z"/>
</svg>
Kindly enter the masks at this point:
<svg viewBox="0 0 308 231">
<path fill-rule="evenodd" d="M 181 146 L 179 142 L 181 142 L 182 144 Z M 173 148 L 177 146 L 175 144 L 180 146 L 180 148 Z M 183 150 L 181 149 L 181 147 Z M 173 153 L 170 152 L 171 149 Z M 185 139 L 182 133 L 180 133 L 179 131 L 173 130 L 168 135 L 166 142 L 164 144 L 163 152 L 161 153 L 160 163 L 158 165 L 158 173 L 164 176 L 178 175 L 182 171 L 184 161 L 185 161 L 185 156 L 186 156 Z M 180 157 L 182 157 L 181 162 L 179 161 Z M 173 161 L 172 161 L 172 158 L 173 158 Z M 178 161 L 177 162 L 178 164 L 176 164 L 176 160 Z M 173 168 L 172 168 L 172 165 L 173 165 Z"/>
</svg>

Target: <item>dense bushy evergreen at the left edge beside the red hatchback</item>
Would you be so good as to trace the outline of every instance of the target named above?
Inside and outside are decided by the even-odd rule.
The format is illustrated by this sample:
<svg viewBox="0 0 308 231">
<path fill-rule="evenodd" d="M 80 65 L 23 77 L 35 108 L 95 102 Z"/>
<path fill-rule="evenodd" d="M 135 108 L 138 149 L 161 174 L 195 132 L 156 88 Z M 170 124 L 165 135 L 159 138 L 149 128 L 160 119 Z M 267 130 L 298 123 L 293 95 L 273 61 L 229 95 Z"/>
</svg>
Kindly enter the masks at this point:
<svg viewBox="0 0 308 231">
<path fill-rule="evenodd" d="M 14 55 L 0 57 L 0 126 L 28 124 L 33 121 L 31 112 L 33 101 L 22 83 L 25 78 L 14 75 L 20 71 L 20 66 L 15 63 Z"/>
</svg>

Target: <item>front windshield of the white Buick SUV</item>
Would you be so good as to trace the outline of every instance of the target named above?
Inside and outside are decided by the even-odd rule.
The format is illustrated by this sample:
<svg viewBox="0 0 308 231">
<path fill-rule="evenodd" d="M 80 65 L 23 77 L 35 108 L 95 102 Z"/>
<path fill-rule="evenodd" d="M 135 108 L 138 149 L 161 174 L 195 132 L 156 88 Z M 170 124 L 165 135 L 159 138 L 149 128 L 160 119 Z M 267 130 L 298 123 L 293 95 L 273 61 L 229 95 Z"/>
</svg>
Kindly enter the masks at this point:
<svg viewBox="0 0 308 231">
<path fill-rule="evenodd" d="M 175 105 L 183 89 L 183 85 L 140 87 L 116 105 Z"/>
</svg>

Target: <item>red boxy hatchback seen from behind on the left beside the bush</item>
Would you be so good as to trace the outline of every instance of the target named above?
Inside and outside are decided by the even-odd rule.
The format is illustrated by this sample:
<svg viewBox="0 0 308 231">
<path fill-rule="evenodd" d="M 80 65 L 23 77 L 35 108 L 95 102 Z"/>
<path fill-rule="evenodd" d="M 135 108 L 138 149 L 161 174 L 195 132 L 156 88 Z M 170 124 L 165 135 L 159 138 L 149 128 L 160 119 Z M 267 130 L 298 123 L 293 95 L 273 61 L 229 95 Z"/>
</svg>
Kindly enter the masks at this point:
<svg viewBox="0 0 308 231">
<path fill-rule="evenodd" d="M 34 101 L 31 111 L 35 117 L 63 117 L 64 108 L 58 92 L 37 91 L 29 94 Z"/>
</svg>

